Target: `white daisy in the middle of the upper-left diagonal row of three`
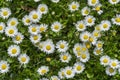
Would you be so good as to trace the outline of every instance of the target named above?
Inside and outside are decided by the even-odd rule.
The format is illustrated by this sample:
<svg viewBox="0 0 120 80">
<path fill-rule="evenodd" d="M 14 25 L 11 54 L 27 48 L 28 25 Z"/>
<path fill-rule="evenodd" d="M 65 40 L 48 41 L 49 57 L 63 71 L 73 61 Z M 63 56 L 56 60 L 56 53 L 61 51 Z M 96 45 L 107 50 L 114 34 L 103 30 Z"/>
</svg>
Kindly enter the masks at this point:
<svg viewBox="0 0 120 80">
<path fill-rule="evenodd" d="M 34 23 L 39 22 L 40 18 L 42 17 L 41 13 L 38 11 L 31 11 L 29 13 L 30 20 Z"/>
</svg>

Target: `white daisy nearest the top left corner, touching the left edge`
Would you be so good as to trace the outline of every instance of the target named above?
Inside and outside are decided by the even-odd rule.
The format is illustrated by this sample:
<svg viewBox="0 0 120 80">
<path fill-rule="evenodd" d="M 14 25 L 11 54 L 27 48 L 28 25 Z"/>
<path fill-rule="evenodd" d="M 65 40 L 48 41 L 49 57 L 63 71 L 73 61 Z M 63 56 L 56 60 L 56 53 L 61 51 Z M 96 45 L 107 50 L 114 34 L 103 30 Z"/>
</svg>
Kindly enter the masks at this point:
<svg viewBox="0 0 120 80">
<path fill-rule="evenodd" d="M 7 19 L 11 15 L 11 10 L 9 8 L 0 9 L 0 17 Z"/>
</svg>

